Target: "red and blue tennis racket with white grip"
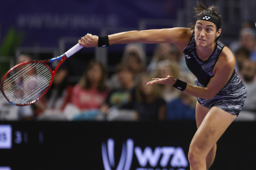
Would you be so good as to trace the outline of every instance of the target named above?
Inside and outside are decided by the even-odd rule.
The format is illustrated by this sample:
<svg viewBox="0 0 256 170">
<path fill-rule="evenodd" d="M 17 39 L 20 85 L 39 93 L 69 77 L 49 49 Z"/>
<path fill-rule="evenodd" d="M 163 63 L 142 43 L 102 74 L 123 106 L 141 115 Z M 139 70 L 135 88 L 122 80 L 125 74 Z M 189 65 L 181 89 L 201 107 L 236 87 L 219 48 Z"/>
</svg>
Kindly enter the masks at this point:
<svg viewBox="0 0 256 170">
<path fill-rule="evenodd" d="M 3 95 L 11 104 L 17 106 L 25 106 L 38 101 L 49 90 L 61 63 L 81 48 L 83 46 L 76 44 L 59 57 L 23 62 L 14 66 L 5 74 L 1 82 Z M 47 63 L 55 60 L 60 61 L 52 71 Z"/>
</svg>

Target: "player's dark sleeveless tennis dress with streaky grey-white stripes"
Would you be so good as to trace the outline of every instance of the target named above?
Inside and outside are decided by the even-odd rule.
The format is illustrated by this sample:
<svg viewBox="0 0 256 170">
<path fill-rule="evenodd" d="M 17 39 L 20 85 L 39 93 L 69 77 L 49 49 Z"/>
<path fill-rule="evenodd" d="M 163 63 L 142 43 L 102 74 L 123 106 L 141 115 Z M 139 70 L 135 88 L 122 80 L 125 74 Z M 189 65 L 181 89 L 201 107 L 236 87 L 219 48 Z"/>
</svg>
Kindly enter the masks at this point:
<svg viewBox="0 0 256 170">
<path fill-rule="evenodd" d="M 195 86 L 207 87 L 210 79 L 214 76 L 213 68 L 225 45 L 217 41 L 213 53 L 206 61 L 202 61 L 197 56 L 195 48 L 191 47 L 195 47 L 195 33 L 183 53 L 185 54 L 187 67 L 197 77 L 195 78 Z M 238 116 L 243 108 L 246 96 L 245 85 L 234 70 L 227 84 L 213 98 L 202 99 L 197 97 L 197 100 L 201 105 L 209 109 L 212 106 L 216 106 Z"/>
</svg>

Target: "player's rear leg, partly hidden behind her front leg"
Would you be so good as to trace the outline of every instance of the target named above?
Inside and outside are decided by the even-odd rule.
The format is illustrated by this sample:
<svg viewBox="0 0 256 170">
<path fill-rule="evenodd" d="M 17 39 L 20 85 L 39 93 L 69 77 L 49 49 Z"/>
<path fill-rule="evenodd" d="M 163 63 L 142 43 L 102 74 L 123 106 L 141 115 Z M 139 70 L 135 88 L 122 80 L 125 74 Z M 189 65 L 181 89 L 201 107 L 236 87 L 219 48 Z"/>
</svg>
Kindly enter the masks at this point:
<svg viewBox="0 0 256 170">
<path fill-rule="evenodd" d="M 195 107 L 195 119 L 197 122 L 197 129 L 201 125 L 203 119 L 205 118 L 206 114 L 209 112 L 209 108 L 203 107 L 200 103 L 196 104 Z M 209 169 L 210 166 L 213 164 L 215 155 L 216 155 L 217 145 L 215 144 L 214 147 L 210 150 L 209 154 L 206 156 L 206 169 Z"/>
</svg>

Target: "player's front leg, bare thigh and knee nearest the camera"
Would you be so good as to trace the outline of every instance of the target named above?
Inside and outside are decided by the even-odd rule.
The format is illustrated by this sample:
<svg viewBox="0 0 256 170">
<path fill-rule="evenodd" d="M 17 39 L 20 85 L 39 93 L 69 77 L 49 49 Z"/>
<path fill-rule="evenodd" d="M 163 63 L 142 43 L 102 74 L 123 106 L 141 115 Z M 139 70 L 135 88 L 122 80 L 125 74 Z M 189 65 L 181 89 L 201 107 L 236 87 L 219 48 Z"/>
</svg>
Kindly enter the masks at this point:
<svg viewBox="0 0 256 170">
<path fill-rule="evenodd" d="M 207 155 L 235 118 L 215 106 L 209 110 L 190 143 L 190 170 L 206 170 Z"/>
</svg>

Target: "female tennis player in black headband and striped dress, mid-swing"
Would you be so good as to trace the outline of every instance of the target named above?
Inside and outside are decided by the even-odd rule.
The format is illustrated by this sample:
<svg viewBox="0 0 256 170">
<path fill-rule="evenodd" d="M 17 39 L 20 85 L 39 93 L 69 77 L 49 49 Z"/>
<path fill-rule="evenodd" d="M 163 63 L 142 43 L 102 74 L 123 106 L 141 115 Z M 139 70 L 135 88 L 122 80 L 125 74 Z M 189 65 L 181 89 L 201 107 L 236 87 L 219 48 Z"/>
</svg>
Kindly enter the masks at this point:
<svg viewBox="0 0 256 170">
<path fill-rule="evenodd" d="M 173 43 L 185 54 L 186 64 L 197 77 L 195 86 L 172 76 L 154 78 L 151 84 L 170 84 L 197 97 L 197 131 L 190 143 L 188 159 L 191 170 L 209 169 L 216 154 L 216 142 L 241 111 L 247 93 L 234 70 L 235 57 L 218 41 L 221 16 L 215 6 L 201 3 L 195 7 L 196 23 L 191 28 L 129 31 L 105 37 L 87 34 L 79 40 L 85 47 L 112 44 Z"/>
</svg>

